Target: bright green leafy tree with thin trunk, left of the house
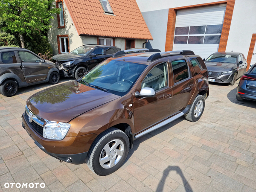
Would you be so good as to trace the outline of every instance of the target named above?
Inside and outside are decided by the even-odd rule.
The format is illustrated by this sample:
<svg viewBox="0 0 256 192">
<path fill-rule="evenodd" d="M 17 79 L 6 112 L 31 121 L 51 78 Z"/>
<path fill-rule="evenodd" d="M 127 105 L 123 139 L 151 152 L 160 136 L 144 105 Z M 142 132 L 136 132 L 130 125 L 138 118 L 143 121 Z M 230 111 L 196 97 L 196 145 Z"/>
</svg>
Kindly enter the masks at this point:
<svg viewBox="0 0 256 192">
<path fill-rule="evenodd" d="M 23 34 L 40 33 L 51 26 L 49 20 L 60 9 L 49 9 L 54 0 L 0 0 L 0 14 L 6 26 L 4 30 L 19 34 L 21 47 L 25 48 Z"/>
</svg>

